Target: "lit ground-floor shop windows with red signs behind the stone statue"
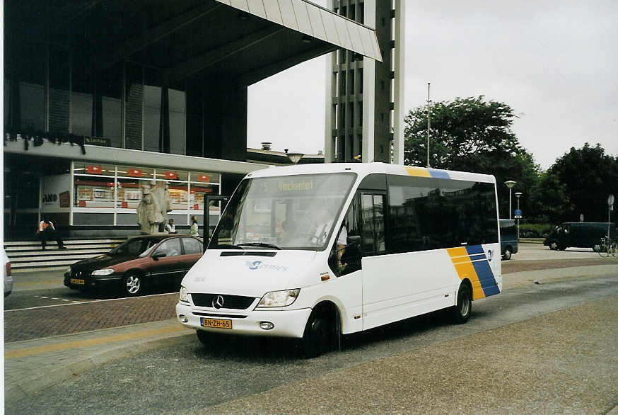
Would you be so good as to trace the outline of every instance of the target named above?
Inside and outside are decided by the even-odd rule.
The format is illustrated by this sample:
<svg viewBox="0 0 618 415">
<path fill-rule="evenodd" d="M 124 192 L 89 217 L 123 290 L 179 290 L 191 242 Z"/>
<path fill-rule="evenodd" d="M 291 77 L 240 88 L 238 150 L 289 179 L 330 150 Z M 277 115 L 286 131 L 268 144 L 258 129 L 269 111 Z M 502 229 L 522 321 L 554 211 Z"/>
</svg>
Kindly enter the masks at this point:
<svg viewBox="0 0 618 415">
<path fill-rule="evenodd" d="M 72 224 L 103 224 L 95 221 L 99 215 L 105 224 L 135 225 L 142 185 L 153 181 L 168 184 L 172 209 L 168 217 L 177 225 L 189 224 L 192 215 L 204 215 L 204 195 L 221 194 L 219 174 L 74 161 Z M 218 215 L 219 208 L 211 205 L 209 212 Z"/>
</svg>

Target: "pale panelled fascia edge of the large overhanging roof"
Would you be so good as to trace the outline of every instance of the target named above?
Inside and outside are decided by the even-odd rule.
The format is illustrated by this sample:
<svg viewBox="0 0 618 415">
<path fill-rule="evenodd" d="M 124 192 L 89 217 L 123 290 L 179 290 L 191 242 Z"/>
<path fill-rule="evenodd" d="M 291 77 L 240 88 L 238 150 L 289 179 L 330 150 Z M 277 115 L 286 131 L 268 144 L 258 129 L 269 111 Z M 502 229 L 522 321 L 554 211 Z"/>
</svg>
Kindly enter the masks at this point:
<svg viewBox="0 0 618 415">
<path fill-rule="evenodd" d="M 305 0 L 216 0 L 382 62 L 375 30 Z"/>
</svg>

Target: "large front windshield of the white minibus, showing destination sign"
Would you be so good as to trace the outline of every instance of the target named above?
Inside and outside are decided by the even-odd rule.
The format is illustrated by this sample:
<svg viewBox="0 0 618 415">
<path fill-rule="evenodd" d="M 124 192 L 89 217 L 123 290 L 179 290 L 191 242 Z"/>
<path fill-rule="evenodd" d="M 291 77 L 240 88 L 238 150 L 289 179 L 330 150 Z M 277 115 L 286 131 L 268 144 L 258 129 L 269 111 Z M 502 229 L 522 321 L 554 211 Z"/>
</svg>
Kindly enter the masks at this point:
<svg viewBox="0 0 618 415">
<path fill-rule="evenodd" d="M 322 251 L 355 179 L 354 173 L 245 179 L 223 212 L 209 249 Z"/>
</svg>

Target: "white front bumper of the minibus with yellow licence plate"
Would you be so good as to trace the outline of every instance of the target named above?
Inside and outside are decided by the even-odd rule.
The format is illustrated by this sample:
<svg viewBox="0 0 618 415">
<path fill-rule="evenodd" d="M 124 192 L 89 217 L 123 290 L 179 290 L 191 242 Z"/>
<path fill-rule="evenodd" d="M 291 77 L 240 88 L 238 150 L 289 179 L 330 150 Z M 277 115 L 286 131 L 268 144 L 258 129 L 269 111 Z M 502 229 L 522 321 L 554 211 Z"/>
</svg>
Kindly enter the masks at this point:
<svg viewBox="0 0 618 415">
<path fill-rule="evenodd" d="M 210 312 L 193 309 L 178 302 L 178 321 L 188 329 L 203 330 L 221 334 L 244 334 L 247 336 L 293 337 L 300 339 L 311 314 L 310 308 L 291 310 L 243 310 L 244 312 Z M 270 327 L 269 324 L 272 324 Z"/>
</svg>

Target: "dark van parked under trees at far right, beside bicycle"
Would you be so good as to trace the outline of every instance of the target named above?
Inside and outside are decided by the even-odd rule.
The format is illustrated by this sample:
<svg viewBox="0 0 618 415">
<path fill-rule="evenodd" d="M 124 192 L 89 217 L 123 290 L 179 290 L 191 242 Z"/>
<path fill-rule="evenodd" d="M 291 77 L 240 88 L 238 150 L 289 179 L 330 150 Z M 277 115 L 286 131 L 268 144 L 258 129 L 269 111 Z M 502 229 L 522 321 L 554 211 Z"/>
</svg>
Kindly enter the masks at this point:
<svg viewBox="0 0 618 415">
<path fill-rule="evenodd" d="M 607 222 L 564 222 L 547 235 L 543 245 L 564 251 L 569 246 L 598 249 L 601 238 L 607 235 Z M 616 224 L 610 224 L 610 235 L 616 238 Z"/>
</svg>

